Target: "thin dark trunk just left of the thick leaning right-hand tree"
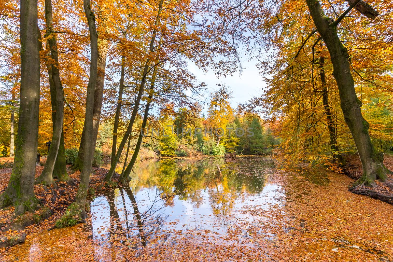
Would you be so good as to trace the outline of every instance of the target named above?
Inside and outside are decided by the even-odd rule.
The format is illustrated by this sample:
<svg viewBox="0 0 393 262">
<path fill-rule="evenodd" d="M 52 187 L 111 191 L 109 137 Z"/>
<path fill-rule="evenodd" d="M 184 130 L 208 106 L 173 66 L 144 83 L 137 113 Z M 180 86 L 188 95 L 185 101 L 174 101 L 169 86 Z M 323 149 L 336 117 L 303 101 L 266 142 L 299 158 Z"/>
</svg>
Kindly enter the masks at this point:
<svg viewBox="0 0 393 262">
<path fill-rule="evenodd" d="M 328 91 L 326 85 L 326 78 L 325 78 L 325 57 L 320 57 L 320 77 L 321 77 L 321 84 L 322 84 L 322 101 L 323 101 L 323 108 L 325 109 L 326 119 L 327 119 L 327 128 L 329 129 L 329 136 L 330 136 L 330 148 L 332 150 L 332 154 L 334 159 L 336 159 L 340 165 L 344 164 L 344 159 L 340 154 L 340 150 L 338 150 L 337 145 L 337 131 L 336 125 L 333 120 L 332 111 L 329 106 L 329 99 L 328 99 Z"/>
</svg>

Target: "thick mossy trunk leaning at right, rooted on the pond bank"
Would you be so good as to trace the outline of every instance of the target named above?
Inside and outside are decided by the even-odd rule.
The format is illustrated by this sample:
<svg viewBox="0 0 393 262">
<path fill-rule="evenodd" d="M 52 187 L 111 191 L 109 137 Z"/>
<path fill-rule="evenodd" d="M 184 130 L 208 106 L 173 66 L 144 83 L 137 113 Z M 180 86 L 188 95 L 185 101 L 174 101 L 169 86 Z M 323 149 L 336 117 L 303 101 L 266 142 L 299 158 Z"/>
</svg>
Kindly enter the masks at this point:
<svg viewBox="0 0 393 262">
<path fill-rule="evenodd" d="M 374 185 L 374 180 L 386 180 L 388 170 L 383 165 L 383 154 L 378 153 L 369 135 L 369 123 L 362 117 L 361 103 L 356 95 L 354 81 L 349 67 L 349 54 L 337 34 L 336 22 L 327 17 L 319 1 L 306 0 L 314 24 L 325 42 L 333 64 L 333 75 L 340 94 L 341 108 L 354 139 L 363 175 L 354 183 L 357 185 Z"/>
</svg>

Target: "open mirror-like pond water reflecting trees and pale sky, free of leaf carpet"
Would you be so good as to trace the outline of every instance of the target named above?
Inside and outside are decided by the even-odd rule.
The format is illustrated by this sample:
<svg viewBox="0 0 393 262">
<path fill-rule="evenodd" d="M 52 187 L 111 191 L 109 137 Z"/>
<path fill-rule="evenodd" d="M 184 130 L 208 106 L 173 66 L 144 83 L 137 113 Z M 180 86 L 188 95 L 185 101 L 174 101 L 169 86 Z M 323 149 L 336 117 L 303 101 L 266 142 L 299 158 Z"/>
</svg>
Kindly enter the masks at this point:
<svg viewBox="0 0 393 262">
<path fill-rule="evenodd" d="M 222 158 L 140 163 L 129 187 L 106 192 L 91 203 L 93 238 L 102 247 L 142 248 L 153 238 L 174 241 L 189 231 L 225 235 L 231 225 L 253 223 L 253 217 L 242 212 L 246 207 L 268 209 L 285 203 L 283 188 L 268 182 L 274 164 L 262 162 L 247 173 L 241 164 Z"/>
</svg>

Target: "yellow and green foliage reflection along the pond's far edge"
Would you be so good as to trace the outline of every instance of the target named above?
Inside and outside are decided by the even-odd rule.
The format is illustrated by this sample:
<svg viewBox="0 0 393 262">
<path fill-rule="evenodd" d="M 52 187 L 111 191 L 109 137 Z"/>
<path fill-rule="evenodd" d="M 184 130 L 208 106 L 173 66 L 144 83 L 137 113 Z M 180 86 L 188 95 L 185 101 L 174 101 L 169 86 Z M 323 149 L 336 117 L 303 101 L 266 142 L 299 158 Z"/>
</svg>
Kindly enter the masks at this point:
<svg viewBox="0 0 393 262">
<path fill-rule="evenodd" d="M 143 188 L 156 186 L 163 191 L 162 196 L 167 198 L 167 205 L 174 205 L 173 195 L 176 195 L 179 200 L 190 200 L 195 208 L 204 204 L 206 191 L 212 208 L 214 206 L 213 210 L 219 209 L 228 214 L 237 197 L 242 197 L 244 193 L 262 192 L 265 183 L 264 171 L 271 170 L 274 163 L 264 161 L 262 165 L 267 168 L 253 169 L 261 166 L 261 163 L 258 164 L 250 165 L 249 162 L 247 167 L 244 167 L 239 163 L 225 163 L 223 158 L 155 161 L 151 165 L 144 163 L 142 167 L 137 167 L 130 187 L 134 192 L 138 192 Z"/>
</svg>

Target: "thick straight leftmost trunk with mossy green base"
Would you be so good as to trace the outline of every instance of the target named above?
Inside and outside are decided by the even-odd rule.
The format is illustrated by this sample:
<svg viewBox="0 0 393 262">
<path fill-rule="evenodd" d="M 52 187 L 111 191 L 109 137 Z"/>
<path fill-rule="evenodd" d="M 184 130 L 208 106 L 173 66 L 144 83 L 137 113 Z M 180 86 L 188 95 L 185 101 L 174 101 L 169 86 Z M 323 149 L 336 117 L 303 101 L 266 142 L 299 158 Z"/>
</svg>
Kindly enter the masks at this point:
<svg viewBox="0 0 393 262">
<path fill-rule="evenodd" d="M 20 106 L 14 165 L 0 208 L 15 205 L 19 215 L 37 208 L 34 177 L 40 106 L 40 42 L 37 0 L 20 1 Z"/>
</svg>

